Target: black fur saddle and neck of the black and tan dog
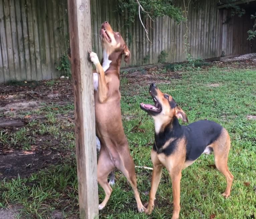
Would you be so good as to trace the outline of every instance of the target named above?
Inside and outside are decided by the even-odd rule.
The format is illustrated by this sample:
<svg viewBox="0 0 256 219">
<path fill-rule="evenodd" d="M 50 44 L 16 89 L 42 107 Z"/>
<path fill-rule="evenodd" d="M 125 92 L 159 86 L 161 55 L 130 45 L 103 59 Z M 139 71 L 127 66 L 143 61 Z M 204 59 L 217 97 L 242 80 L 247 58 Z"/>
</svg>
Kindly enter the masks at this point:
<svg viewBox="0 0 256 219">
<path fill-rule="evenodd" d="M 186 141 L 186 161 L 194 161 L 199 158 L 208 145 L 220 137 L 222 129 L 221 125 L 208 120 L 200 120 L 188 126 L 181 126 L 178 119 L 174 118 L 163 132 L 155 134 L 153 150 L 158 154 L 164 153 L 169 156 L 175 151 L 177 141 L 184 138 Z M 165 149 L 162 149 L 165 142 L 170 138 L 174 140 Z"/>
</svg>

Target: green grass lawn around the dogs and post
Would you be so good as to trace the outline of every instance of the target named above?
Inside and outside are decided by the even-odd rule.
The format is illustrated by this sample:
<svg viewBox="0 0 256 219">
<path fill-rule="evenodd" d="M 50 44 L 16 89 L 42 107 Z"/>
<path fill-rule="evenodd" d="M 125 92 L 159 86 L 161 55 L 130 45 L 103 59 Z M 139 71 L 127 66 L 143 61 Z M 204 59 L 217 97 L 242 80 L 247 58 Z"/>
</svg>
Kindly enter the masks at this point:
<svg viewBox="0 0 256 219">
<path fill-rule="evenodd" d="M 202 155 L 197 162 L 182 171 L 180 218 L 255 218 L 256 120 L 247 117 L 256 115 L 256 70 L 232 65 L 210 66 L 183 71 L 174 78 L 169 77 L 164 68 L 152 71 L 157 78 L 156 85 L 162 92 L 173 96 L 190 123 L 206 118 L 213 120 L 224 126 L 231 137 L 228 166 L 234 181 L 230 197 L 224 199 L 221 195 L 225 191 L 226 180 L 211 166 L 214 164 L 213 155 Z M 153 120 L 139 107 L 140 102 L 152 103 L 149 85 L 146 81 L 129 82 L 129 73 L 126 72 L 121 78 L 123 126 L 131 155 L 135 165 L 152 167 L 150 151 L 154 141 Z M 58 117 L 72 110 L 72 102 L 66 105 L 41 105 L 37 110 L 21 112 L 19 116 L 43 116 L 43 122 L 32 120 L 11 134 L 0 131 L 0 141 L 10 147 L 14 145 L 11 139 L 16 139 L 22 142 L 20 149 L 30 150 L 30 145 L 36 144 L 36 140 L 26 138 L 25 133 L 33 131 L 37 136 L 51 135 L 58 140 L 54 145 L 55 150 L 61 148 L 70 152 L 69 156 L 61 157 L 56 165 L 26 177 L 0 181 L 0 207 L 21 204 L 23 210 L 20 218 L 49 218 L 54 209 L 62 210 L 66 218 L 78 217 L 74 123 L 67 128 L 67 124 L 63 123 L 67 118 Z M 145 203 L 149 198 L 152 172 L 144 169 L 136 169 L 136 172 L 138 190 Z M 107 206 L 100 211 L 100 218 L 171 218 L 172 190 L 166 170 L 163 171 L 157 190 L 155 210 L 150 216 L 137 212 L 133 192 L 126 178 L 119 172 L 115 175 L 113 193 Z M 99 187 L 99 200 L 103 198 L 104 191 Z"/>
</svg>

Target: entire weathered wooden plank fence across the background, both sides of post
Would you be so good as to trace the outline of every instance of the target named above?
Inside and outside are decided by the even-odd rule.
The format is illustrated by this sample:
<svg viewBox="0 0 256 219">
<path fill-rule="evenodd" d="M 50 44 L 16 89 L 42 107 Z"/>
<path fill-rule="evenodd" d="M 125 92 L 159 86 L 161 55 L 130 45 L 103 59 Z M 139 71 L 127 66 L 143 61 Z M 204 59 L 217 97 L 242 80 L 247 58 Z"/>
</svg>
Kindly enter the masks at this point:
<svg viewBox="0 0 256 219">
<path fill-rule="evenodd" d="M 184 9 L 183 1 L 176 0 Z M 186 59 L 184 35 L 186 24 L 177 24 L 164 16 L 156 18 L 149 38 L 139 19 L 129 26 L 125 16 L 116 12 L 115 0 L 91 0 L 92 48 L 102 57 L 99 29 L 109 21 L 119 31 L 131 51 L 129 66 Z M 126 12 L 127 17 L 128 12 Z M 203 59 L 221 55 L 256 52 L 256 40 L 247 40 L 253 19 L 229 16 L 218 9 L 216 1 L 200 0 L 191 4 L 187 27 L 190 54 Z M 0 0 L 0 82 L 56 78 L 61 55 L 69 47 L 67 1 Z M 122 62 L 122 67 L 128 66 Z"/>
</svg>

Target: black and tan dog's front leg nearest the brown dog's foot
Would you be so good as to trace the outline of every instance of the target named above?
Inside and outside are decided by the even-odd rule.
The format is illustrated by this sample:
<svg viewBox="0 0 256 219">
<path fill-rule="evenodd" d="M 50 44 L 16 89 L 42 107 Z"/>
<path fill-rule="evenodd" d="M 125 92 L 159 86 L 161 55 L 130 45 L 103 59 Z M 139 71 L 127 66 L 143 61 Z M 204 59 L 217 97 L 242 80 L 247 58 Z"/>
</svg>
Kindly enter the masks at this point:
<svg viewBox="0 0 256 219">
<path fill-rule="evenodd" d="M 162 176 L 163 166 L 157 158 L 157 153 L 151 151 L 151 160 L 153 163 L 153 173 L 152 173 L 152 180 L 151 180 L 151 189 L 149 192 L 149 202 L 147 204 L 147 209 L 145 210 L 146 214 L 151 214 L 154 209 L 154 200 L 155 194 Z"/>
</svg>

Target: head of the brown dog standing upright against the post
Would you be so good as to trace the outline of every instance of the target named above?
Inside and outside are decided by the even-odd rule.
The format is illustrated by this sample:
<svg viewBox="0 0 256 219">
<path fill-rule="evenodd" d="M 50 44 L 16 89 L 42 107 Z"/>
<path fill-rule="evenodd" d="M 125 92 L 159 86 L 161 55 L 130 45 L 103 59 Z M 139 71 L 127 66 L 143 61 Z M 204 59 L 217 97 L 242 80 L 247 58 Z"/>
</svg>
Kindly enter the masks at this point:
<svg viewBox="0 0 256 219">
<path fill-rule="evenodd" d="M 123 40 L 122 36 L 118 32 L 114 32 L 110 24 L 105 21 L 101 25 L 100 29 L 100 38 L 103 49 L 106 50 L 108 56 L 113 52 L 124 54 L 125 62 L 129 62 L 131 53 Z"/>
</svg>

